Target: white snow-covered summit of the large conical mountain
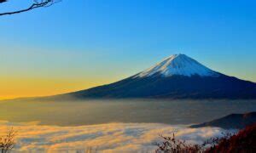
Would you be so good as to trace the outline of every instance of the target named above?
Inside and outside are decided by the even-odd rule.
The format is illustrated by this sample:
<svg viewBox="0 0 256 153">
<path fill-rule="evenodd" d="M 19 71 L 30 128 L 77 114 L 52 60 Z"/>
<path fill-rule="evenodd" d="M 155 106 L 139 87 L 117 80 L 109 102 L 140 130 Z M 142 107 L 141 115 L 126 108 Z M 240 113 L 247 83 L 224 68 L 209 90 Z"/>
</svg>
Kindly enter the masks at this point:
<svg viewBox="0 0 256 153">
<path fill-rule="evenodd" d="M 171 77 L 173 75 L 218 77 L 217 72 L 201 65 L 195 59 L 191 59 L 185 54 L 174 54 L 148 70 L 138 73 L 135 77 L 150 77 L 154 74 L 160 74 L 164 77 Z"/>
</svg>

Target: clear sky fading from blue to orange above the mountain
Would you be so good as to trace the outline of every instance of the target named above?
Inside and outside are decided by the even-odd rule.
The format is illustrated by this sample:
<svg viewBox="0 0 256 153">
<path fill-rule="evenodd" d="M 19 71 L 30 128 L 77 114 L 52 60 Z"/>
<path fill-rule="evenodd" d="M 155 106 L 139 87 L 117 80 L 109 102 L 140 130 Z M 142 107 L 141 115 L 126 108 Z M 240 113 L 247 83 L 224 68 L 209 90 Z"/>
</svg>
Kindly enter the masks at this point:
<svg viewBox="0 0 256 153">
<path fill-rule="evenodd" d="M 0 12 L 32 1 L 9 0 Z M 187 54 L 256 82 L 253 0 L 62 0 L 0 17 L 0 99 L 91 88 Z"/>
</svg>

